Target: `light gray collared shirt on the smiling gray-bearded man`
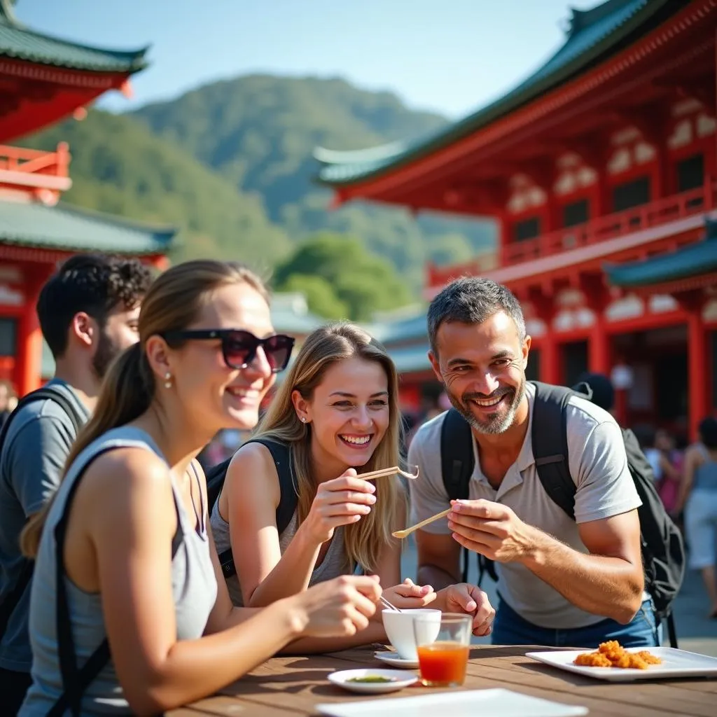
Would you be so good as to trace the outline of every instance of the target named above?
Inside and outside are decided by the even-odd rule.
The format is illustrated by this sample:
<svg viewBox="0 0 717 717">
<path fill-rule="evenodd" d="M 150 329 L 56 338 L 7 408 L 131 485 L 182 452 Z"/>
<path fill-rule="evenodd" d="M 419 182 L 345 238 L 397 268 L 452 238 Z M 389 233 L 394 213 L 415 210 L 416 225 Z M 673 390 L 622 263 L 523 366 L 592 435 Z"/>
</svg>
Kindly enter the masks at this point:
<svg viewBox="0 0 717 717">
<path fill-rule="evenodd" d="M 622 431 L 614 418 L 595 404 L 571 397 L 567 411 L 568 464 L 576 484 L 575 520 L 554 503 L 538 478 L 531 440 L 535 389 L 526 386 L 528 431 L 518 460 L 494 490 L 480 470 L 473 440 L 475 469 L 470 478 L 470 499 L 492 500 L 513 509 L 518 518 L 549 533 L 576 551 L 588 553 L 578 532 L 579 523 L 610 518 L 641 505 L 627 467 Z M 445 413 L 424 424 L 409 447 L 409 465 L 419 467 L 410 480 L 412 523 L 444 511 L 450 501 L 441 475 L 441 427 Z M 556 427 L 560 430 L 560 427 Z M 445 518 L 422 528 L 427 533 L 450 535 Z M 533 625 L 554 629 L 586 627 L 604 619 L 584 612 L 556 589 L 519 563 L 496 563 L 500 596 Z"/>
</svg>

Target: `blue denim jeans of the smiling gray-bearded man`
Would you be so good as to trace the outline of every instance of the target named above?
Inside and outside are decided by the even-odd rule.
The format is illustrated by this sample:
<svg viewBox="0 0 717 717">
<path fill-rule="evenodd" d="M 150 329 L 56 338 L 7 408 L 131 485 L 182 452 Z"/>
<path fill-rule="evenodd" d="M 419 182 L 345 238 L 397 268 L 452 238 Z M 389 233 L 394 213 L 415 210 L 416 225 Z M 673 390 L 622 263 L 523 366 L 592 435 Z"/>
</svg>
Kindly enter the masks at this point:
<svg viewBox="0 0 717 717">
<path fill-rule="evenodd" d="M 652 599 L 642 603 L 627 625 L 608 618 L 587 627 L 556 629 L 533 625 L 500 598 L 491 635 L 493 645 L 587 647 L 593 650 L 606 640 L 618 640 L 623 647 L 659 647 L 662 625 L 655 615 Z"/>
</svg>

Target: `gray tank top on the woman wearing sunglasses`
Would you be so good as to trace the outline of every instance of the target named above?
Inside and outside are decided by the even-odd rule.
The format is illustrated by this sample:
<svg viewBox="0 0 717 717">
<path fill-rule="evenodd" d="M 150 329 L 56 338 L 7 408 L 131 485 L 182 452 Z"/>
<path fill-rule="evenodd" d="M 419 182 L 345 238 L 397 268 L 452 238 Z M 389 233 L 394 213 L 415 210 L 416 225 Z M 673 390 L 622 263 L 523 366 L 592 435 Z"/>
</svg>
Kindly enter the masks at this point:
<svg viewBox="0 0 717 717">
<path fill-rule="evenodd" d="M 39 717 L 47 714 L 62 693 L 62 676 L 55 632 L 55 541 L 54 526 L 62 516 L 72 483 L 100 452 L 110 448 L 138 447 L 156 453 L 164 460 L 157 445 L 141 429 L 123 426 L 113 429 L 90 444 L 72 464 L 57 490 L 47 524 L 42 533 L 30 597 L 30 643 L 32 645 L 32 687 L 20 715 Z M 192 477 L 194 480 L 194 476 Z M 206 507 L 201 505 L 196 530 L 184 510 L 179 488 L 172 479 L 172 494 L 179 521 L 177 550 L 172 559 L 172 594 L 176 614 L 177 640 L 195 640 L 204 634 L 209 613 L 217 602 L 209 539 L 206 532 Z M 201 493 L 200 493 L 201 495 Z M 105 623 L 99 593 L 87 593 L 65 577 L 67 599 L 75 638 L 77 666 L 105 640 Z M 82 715 L 131 714 L 111 660 L 90 683 L 82 697 Z"/>
</svg>

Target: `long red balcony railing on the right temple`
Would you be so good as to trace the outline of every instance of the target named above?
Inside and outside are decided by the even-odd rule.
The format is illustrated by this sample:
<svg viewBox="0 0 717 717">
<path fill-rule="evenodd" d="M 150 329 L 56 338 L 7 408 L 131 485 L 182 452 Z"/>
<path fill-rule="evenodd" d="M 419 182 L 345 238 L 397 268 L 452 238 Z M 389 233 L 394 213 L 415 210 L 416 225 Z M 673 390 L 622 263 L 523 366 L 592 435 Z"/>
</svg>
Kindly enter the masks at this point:
<svg viewBox="0 0 717 717">
<path fill-rule="evenodd" d="M 635 206 L 625 212 L 606 214 L 604 217 L 590 219 L 574 227 L 556 229 L 541 234 L 535 239 L 521 242 L 508 242 L 500 247 L 500 266 L 512 266 L 530 262 L 539 257 L 559 254 L 588 244 L 597 244 L 606 239 L 633 234 L 642 229 L 658 227 L 677 219 L 703 214 L 717 208 L 717 183 L 708 179 L 698 189 L 655 199 L 648 204 Z M 446 267 L 427 266 L 427 285 L 438 287 L 445 285 L 455 277 L 480 275 L 495 268 L 486 259 L 465 262 Z"/>
</svg>

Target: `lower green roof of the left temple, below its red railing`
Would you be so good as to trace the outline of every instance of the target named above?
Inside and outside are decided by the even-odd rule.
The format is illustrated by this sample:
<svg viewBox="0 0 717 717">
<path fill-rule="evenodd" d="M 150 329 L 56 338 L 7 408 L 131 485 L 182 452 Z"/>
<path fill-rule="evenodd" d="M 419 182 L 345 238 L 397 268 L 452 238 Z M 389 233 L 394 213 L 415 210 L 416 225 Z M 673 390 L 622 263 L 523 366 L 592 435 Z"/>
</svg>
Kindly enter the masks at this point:
<svg viewBox="0 0 717 717">
<path fill-rule="evenodd" d="M 70 204 L 0 201 L 0 242 L 70 252 L 161 254 L 176 229 L 151 227 Z"/>
</svg>

